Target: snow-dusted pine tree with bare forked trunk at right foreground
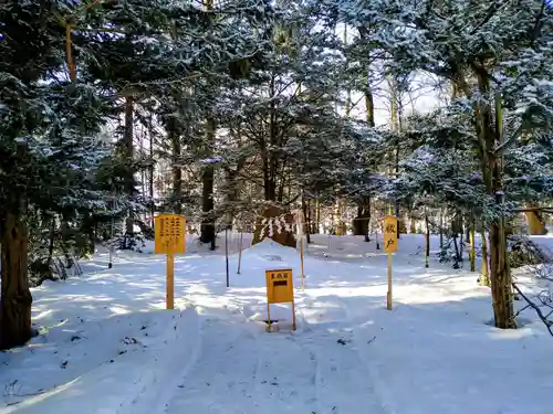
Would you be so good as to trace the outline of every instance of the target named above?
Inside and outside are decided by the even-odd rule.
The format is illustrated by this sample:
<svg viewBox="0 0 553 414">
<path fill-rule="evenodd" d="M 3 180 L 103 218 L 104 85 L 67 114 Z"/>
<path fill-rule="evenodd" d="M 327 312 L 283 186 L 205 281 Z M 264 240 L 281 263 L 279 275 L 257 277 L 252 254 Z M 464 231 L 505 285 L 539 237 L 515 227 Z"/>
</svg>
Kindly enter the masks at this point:
<svg viewBox="0 0 553 414">
<path fill-rule="evenodd" d="M 379 32 L 367 42 L 393 56 L 392 73 L 429 72 L 451 82 L 467 99 L 482 179 L 493 200 L 488 204 L 493 209 L 488 210 L 487 223 L 495 326 L 513 327 L 503 158 L 511 147 L 520 145 L 523 131 L 551 126 L 547 72 L 530 70 L 528 76 L 519 75 L 551 63 L 550 8 L 538 0 L 501 7 L 495 2 L 385 0 L 371 4 L 371 9 L 343 1 L 338 10 L 338 17 L 354 26 L 368 28 L 379 22 Z M 529 65 L 529 54 L 535 64 Z M 513 91 L 517 100 L 508 93 Z M 505 109 L 517 109 L 511 124 L 505 124 Z"/>
</svg>

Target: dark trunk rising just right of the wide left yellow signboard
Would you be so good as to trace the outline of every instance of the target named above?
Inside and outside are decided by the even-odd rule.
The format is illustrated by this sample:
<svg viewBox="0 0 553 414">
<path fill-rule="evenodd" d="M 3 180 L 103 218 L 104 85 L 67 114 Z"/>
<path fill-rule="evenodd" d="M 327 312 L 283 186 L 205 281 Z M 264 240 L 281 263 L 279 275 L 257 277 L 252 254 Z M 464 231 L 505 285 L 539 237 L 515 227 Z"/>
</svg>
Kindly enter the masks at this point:
<svg viewBox="0 0 553 414">
<path fill-rule="evenodd" d="M 216 135 L 216 124 L 215 119 L 208 118 L 206 126 L 206 141 L 211 148 L 215 141 Z M 211 163 L 204 166 L 204 171 L 201 173 L 201 212 L 204 213 L 204 219 L 201 221 L 200 230 L 200 242 L 210 243 L 211 250 L 215 250 L 215 216 L 213 216 L 213 181 L 215 181 L 215 168 Z"/>
</svg>

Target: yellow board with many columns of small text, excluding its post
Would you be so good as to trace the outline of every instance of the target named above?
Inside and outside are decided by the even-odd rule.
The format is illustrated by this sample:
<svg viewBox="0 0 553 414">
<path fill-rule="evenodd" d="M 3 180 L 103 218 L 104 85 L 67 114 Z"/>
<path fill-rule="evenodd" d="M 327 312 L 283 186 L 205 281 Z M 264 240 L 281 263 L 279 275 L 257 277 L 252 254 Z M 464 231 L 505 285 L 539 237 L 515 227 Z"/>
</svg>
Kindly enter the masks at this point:
<svg viewBox="0 0 553 414">
<path fill-rule="evenodd" d="M 155 253 L 186 253 L 186 217 L 178 214 L 159 214 L 154 220 Z"/>
</svg>

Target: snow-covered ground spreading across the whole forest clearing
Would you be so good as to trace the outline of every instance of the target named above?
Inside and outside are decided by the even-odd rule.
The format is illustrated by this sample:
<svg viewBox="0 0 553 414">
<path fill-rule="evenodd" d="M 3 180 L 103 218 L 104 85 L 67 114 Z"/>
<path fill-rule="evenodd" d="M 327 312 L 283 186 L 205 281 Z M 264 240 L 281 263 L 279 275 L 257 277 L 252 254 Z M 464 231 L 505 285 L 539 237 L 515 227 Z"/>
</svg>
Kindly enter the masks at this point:
<svg viewBox="0 0 553 414">
<path fill-rule="evenodd" d="M 33 289 L 41 336 L 0 354 L 0 413 L 20 414 L 547 414 L 553 338 L 536 321 L 498 330 L 477 274 L 432 261 L 421 235 L 394 257 L 394 310 L 385 309 L 386 256 L 362 237 L 315 236 L 305 258 L 244 236 L 230 288 L 223 248 L 189 240 L 176 258 L 176 310 L 165 310 L 165 258 L 100 252 L 83 277 Z M 436 246 L 437 237 L 432 238 Z M 222 254 L 221 254 L 222 253 Z M 264 270 L 292 267 L 290 306 L 265 332 Z"/>
</svg>

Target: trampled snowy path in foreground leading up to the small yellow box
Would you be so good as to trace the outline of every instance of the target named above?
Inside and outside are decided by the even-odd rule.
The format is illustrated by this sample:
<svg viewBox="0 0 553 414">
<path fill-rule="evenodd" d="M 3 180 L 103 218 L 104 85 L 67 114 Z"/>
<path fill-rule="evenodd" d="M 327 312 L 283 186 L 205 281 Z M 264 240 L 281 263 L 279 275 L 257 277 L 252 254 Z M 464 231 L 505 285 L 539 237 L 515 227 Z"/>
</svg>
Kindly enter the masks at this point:
<svg viewBox="0 0 553 414">
<path fill-rule="evenodd" d="M 296 332 L 267 333 L 259 322 L 207 318 L 198 358 L 184 370 L 175 362 L 167 379 L 152 383 L 131 411 L 346 414 L 363 406 L 368 414 L 385 413 L 351 332 L 328 333 L 300 319 Z"/>
</svg>

